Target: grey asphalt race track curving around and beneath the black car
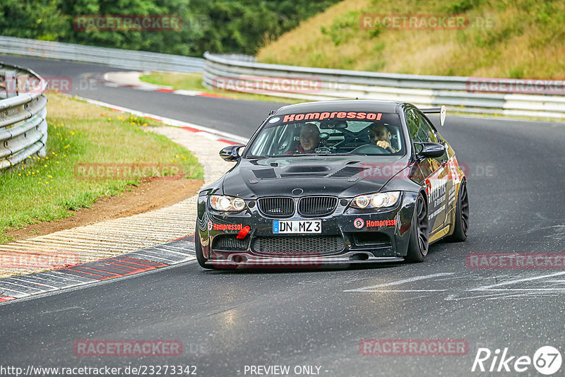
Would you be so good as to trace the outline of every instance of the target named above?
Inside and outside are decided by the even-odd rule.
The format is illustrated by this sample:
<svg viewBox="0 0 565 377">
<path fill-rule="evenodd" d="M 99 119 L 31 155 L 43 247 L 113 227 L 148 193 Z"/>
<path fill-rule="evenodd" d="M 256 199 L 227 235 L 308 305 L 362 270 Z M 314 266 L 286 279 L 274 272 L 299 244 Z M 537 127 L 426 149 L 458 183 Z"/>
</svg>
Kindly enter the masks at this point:
<svg viewBox="0 0 565 377">
<path fill-rule="evenodd" d="M 0 61 L 73 80 L 119 71 L 14 56 Z M 73 94 L 246 137 L 278 107 L 104 85 Z M 533 357 L 550 345 L 564 354 L 563 268 L 471 269 L 465 257 L 565 251 L 565 124 L 448 115 L 440 132 L 468 166 L 465 243 L 434 244 L 424 263 L 341 270 L 218 272 L 186 263 L 16 300 L 0 305 L 0 364 L 194 365 L 198 376 L 250 376 L 246 366 L 257 365 L 288 365 L 291 372 L 320 366 L 321 376 L 468 376 L 486 374 L 471 372 L 480 347 Z M 362 356 L 365 339 L 463 339 L 468 354 Z M 77 357 L 77 340 L 179 340 L 184 352 Z M 565 365 L 556 375 L 564 371 Z M 521 374 L 536 373 L 529 366 Z"/>
</svg>

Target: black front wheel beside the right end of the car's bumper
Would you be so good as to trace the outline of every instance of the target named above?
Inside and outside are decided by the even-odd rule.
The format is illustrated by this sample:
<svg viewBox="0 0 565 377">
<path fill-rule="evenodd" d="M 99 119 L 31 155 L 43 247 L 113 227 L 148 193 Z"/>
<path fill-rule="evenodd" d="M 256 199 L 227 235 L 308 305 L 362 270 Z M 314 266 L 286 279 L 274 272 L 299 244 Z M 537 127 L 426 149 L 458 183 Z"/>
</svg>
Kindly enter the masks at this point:
<svg viewBox="0 0 565 377">
<path fill-rule="evenodd" d="M 422 194 L 418 194 L 410 226 L 408 253 L 404 259 L 411 263 L 423 262 L 429 249 L 428 206 Z"/>
</svg>

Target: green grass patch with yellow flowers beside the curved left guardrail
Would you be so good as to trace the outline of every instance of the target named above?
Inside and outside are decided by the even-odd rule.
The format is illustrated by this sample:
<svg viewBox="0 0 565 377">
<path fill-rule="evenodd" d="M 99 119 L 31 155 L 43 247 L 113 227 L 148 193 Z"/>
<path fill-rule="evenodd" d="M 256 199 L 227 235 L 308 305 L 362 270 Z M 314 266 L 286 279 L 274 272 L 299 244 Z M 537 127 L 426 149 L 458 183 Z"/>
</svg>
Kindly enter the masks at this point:
<svg viewBox="0 0 565 377">
<path fill-rule="evenodd" d="M 138 185 L 138 179 L 78 179 L 79 163 L 179 164 L 184 177 L 203 179 L 189 150 L 145 128 L 159 124 L 54 93 L 48 98 L 47 156 L 0 172 L 0 244 L 10 241 L 7 229 L 71 216 Z"/>
</svg>

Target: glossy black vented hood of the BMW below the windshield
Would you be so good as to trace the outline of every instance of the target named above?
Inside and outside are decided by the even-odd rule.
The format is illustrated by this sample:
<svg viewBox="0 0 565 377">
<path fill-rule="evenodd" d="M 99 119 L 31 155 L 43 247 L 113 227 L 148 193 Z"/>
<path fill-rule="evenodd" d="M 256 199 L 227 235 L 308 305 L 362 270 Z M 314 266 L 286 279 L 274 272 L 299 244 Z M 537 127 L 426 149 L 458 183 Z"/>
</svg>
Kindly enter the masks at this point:
<svg viewBox="0 0 565 377">
<path fill-rule="evenodd" d="M 225 195 L 246 199 L 319 194 L 353 197 L 379 191 L 407 165 L 408 158 L 398 156 L 244 159 L 225 174 L 222 190 Z"/>
</svg>

